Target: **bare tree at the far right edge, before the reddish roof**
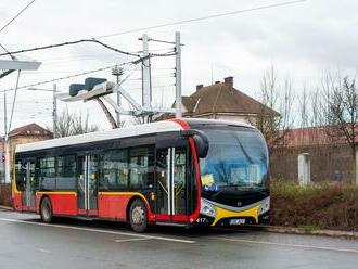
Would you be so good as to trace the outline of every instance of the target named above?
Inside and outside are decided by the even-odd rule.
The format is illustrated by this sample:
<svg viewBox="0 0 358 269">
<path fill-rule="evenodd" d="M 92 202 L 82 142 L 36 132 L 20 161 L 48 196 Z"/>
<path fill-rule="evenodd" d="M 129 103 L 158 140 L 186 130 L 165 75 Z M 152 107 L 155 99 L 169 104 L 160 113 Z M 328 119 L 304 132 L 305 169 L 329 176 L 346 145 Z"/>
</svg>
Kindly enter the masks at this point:
<svg viewBox="0 0 358 269">
<path fill-rule="evenodd" d="M 343 140 L 350 146 L 353 175 L 355 175 L 355 182 L 358 184 L 356 172 L 358 89 L 356 79 L 345 77 L 325 90 L 328 91 L 328 121 L 330 124 L 328 129 L 330 136 L 340 141 Z"/>
</svg>

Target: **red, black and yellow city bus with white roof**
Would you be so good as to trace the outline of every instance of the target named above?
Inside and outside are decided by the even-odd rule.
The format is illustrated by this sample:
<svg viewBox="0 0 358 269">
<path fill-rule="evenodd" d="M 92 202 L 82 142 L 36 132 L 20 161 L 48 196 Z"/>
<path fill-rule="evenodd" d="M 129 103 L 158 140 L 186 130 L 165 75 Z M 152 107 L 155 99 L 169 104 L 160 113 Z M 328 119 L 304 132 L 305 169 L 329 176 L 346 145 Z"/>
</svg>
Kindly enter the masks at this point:
<svg viewBox="0 0 358 269">
<path fill-rule="evenodd" d="M 268 219 L 268 151 L 246 124 L 172 119 L 17 145 L 14 208 L 54 217 L 227 226 Z"/>
</svg>

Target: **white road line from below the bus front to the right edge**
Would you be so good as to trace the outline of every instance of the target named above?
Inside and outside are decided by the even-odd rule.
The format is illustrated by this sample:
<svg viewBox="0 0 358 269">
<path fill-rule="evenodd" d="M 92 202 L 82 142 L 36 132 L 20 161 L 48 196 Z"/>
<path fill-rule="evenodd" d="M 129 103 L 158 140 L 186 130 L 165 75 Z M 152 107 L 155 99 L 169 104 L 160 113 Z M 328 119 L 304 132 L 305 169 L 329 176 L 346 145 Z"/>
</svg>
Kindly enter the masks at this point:
<svg viewBox="0 0 358 269">
<path fill-rule="evenodd" d="M 286 244 L 286 243 L 276 243 L 276 242 L 268 242 L 268 241 L 245 240 L 245 239 L 229 239 L 229 238 L 214 238 L 214 239 L 216 239 L 216 240 L 222 240 L 222 241 L 240 242 L 240 243 L 251 243 L 251 244 L 278 245 L 278 246 L 289 246 L 289 247 L 298 247 L 298 248 L 319 249 L 319 251 L 358 253 L 358 249 L 355 249 L 355 248 L 336 248 L 336 247 L 329 247 L 329 246 Z"/>
</svg>

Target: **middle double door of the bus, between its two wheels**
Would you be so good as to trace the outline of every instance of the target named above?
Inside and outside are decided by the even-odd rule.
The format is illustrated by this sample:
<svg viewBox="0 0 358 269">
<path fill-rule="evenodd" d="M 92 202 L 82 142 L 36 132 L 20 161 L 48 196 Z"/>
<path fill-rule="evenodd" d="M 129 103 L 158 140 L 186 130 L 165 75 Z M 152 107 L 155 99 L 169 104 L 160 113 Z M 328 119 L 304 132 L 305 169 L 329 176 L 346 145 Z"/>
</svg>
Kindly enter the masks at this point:
<svg viewBox="0 0 358 269">
<path fill-rule="evenodd" d="M 98 156 L 78 156 L 78 215 L 98 215 Z"/>
</svg>

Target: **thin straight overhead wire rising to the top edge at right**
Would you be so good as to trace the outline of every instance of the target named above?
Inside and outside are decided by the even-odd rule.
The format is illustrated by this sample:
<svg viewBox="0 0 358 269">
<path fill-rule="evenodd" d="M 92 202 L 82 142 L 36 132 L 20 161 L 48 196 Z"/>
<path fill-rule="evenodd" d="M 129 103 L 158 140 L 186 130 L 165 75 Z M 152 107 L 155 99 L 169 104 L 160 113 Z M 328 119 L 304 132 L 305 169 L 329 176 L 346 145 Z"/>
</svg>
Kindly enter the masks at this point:
<svg viewBox="0 0 358 269">
<path fill-rule="evenodd" d="M 167 26 L 200 22 L 200 21 L 205 21 L 205 20 L 210 20 L 210 18 L 216 18 L 216 17 L 235 15 L 235 14 L 246 13 L 246 12 L 252 12 L 252 11 L 273 9 L 273 8 L 278 8 L 278 7 L 284 7 L 284 5 L 290 5 L 290 4 L 295 4 L 295 3 L 299 3 L 299 2 L 306 2 L 306 1 L 307 0 L 296 0 L 296 1 L 289 1 L 289 2 L 260 5 L 260 7 L 251 8 L 251 9 L 236 10 L 236 11 L 218 13 L 218 14 L 213 14 L 213 15 L 207 15 L 207 16 L 202 16 L 202 17 L 194 17 L 194 18 L 188 18 L 188 20 L 182 20 L 182 21 L 176 21 L 176 22 L 171 22 L 171 23 L 157 24 L 157 25 L 153 25 L 153 26 L 141 27 L 141 28 L 136 28 L 136 29 L 130 29 L 130 30 L 123 30 L 123 31 L 118 31 L 118 33 L 114 33 L 114 34 L 98 36 L 98 37 L 94 37 L 94 38 L 95 39 L 108 38 L 108 37 L 120 36 L 120 35 L 126 35 L 126 34 L 131 34 L 131 33 L 137 33 L 137 31 L 143 31 L 143 30 L 163 28 L 163 27 L 167 27 Z"/>
</svg>

